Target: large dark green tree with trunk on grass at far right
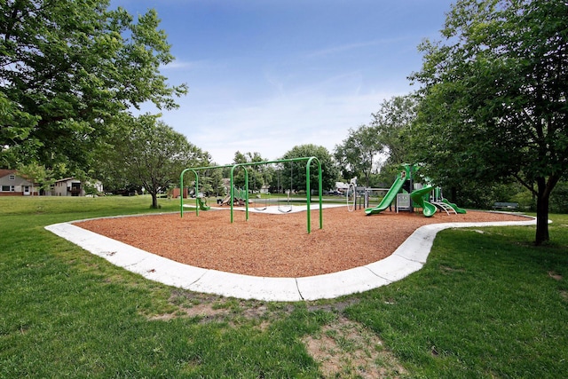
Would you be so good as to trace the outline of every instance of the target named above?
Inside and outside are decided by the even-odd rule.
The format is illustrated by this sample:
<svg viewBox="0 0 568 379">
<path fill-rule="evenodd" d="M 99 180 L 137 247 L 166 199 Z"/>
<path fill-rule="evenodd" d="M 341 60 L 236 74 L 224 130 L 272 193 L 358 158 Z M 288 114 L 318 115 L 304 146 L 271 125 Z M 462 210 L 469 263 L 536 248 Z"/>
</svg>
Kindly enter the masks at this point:
<svg viewBox="0 0 568 379">
<path fill-rule="evenodd" d="M 537 245 L 568 170 L 566 11 L 558 0 L 458 1 L 411 75 L 422 83 L 414 142 L 431 176 L 515 178 L 537 199 Z"/>
</svg>

